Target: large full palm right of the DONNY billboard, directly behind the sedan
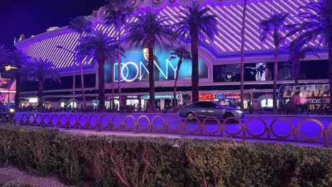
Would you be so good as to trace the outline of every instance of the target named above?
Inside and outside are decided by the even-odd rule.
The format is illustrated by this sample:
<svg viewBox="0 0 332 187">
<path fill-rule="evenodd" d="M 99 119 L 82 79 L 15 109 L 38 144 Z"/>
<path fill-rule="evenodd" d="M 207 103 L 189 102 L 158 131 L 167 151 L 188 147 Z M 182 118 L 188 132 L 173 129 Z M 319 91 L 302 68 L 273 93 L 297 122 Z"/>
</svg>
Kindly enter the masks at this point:
<svg viewBox="0 0 332 187">
<path fill-rule="evenodd" d="M 213 40 L 217 33 L 216 16 L 207 13 L 210 8 L 201 8 L 199 4 L 181 10 L 175 34 L 180 38 L 191 40 L 192 47 L 192 101 L 199 101 L 199 40 L 207 35 Z"/>
</svg>

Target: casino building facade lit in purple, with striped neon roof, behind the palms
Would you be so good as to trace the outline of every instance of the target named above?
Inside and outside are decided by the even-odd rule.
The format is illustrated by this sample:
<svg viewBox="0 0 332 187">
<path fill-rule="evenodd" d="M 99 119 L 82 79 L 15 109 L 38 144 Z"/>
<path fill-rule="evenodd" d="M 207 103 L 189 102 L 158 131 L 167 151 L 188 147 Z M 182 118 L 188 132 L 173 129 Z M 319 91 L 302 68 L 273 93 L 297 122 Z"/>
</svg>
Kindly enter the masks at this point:
<svg viewBox="0 0 332 187">
<path fill-rule="evenodd" d="M 182 8 L 186 8 L 184 0 L 163 1 L 131 1 L 132 6 L 146 8 L 152 6 L 160 12 L 160 16 L 167 16 L 170 21 L 167 24 L 177 23 L 176 16 Z M 274 45 L 272 37 L 260 42 L 259 23 L 269 18 L 274 13 L 289 13 L 287 23 L 297 23 L 299 7 L 308 4 L 309 0 L 258 0 L 248 1 L 247 15 L 245 20 L 245 106 L 248 102 L 253 104 L 255 110 L 272 108 L 272 77 L 274 63 Z M 191 3 L 191 2 L 190 2 Z M 199 91 L 201 100 L 214 100 L 224 105 L 236 106 L 240 98 L 240 43 L 243 1 L 201 1 L 205 7 L 209 7 L 209 13 L 217 16 L 218 34 L 214 40 L 206 39 L 199 45 Z M 106 26 L 104 23 L 105 8 L 99 8 L 93 16 L 86 16 L 94 23 L 94 30 L 115 35 L 114 26 Z M 129 18 L 128 22 L 135 21 Z M 284 35 L 287 30 L 284 30 Z M 122 33 L 126 38 L 126 32 Z M 45 84 L 45 104 L 48 107 L 57 108 L 72 105 L 74 90 L 74 105 L 81 106 L 82 93 L 79 72 L 79 63 L 83 65 L 84 88 L 87 104 L 96 105 L 98 94 L 96 60 L 86 58 L 82 62 L 75 62 L 73 50 L 78 45 L 78 33 L 69 28 L 62 27 L 50 30 L 33 38 L 21 40 L 16 44 L 18 50 L 36 58 L 48 59 L 54 63 L 62 76 L 62 84 Z M 280 48 L 278 57 L 278 87 L 282 84 L 294 83 L 292 64 L 289 62 L 287 45 L 294 37 L 286 38 Z M 144 79 L 147 71 L 146 60 L 141 46 L 131 47 L 123 40 L 126 50 L 126 58 L 121 60 L 121 92 L 127 105 L 145 108 L 148 99 L 148 80 Z M 316 46 L 319 41 L 310 42 Z M 155 68 L 159 70 L 159 77 L 155 80 L 155 94 L 160 108 L 170 106 L 172 90 L 175 78 L 177 60 L 170 60 L 172 48 L 184 45 L 190 50 L 190 43 L 176 41 L 167 43 L 162 47 L 155 48 Z M 59 48 L 57 46 L 62 46 Z M 323 83 L 328 81 L 328 55 L 326 50 L 320 50 L 319 57 L 307 54 L 301 62 L 300 83 Z M 106 96 L 111 96 L 111 71 L 115 72 L 114 81 L 117 80 L 118 64 L 115 62 L 105 64 Z M 74 82 L 73 83 L 73 77 Z M 74 89 L 73 89 L 74 84 Z M 117 83 L 115 84 L 117 88 Z M 191 98 L 191 62 L 185 61 L 179 71 L 178 81 L 178 104 L 189 103 Z M 27 82 L 22 85 L 22 98 L 29 102 L 37 96 L 37 84 Z M 116 90 L 117 92 L 117 90 Z M 107 103 L 109 105 L 109 103 Z"/>
</svg>

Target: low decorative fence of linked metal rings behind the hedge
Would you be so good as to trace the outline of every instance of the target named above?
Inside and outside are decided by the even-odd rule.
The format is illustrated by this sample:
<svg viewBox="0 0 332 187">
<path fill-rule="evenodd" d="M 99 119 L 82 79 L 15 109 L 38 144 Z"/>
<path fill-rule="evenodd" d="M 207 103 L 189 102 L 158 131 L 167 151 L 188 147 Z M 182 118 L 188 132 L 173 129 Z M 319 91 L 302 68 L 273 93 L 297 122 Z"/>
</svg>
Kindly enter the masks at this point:
<svg viewBox="0 0 332 187">
<path fill-rule="evenodd" d="M 16 125 L 31 125 L 42 128 L 86 129 L 101 131 L 150 132 L 176 135 L 231 137 L 240 140 L 273 140 L 332 145 L 332 119 L 323 124 L 314 118 L 304 118 L 294 124 L 290 118 L 274 118 L 270 123 L 263 118 L 248 118 L 243 122 L 231 117 L 218 120 L 207 117 L 199 120 L 180 118 L 176 114 L 123 114 L 123 113 L 16 113 Z M 230 123 L 232 121 L 232 123 Z M 302 130 L 310 123 L 317 130 L 315 137 Z M 282 124 L 285 132 L 277 125 Z M 315 125 L 315 126 L 314 126 Z M 324 126 L 325 125 L 325 126 Z M 257 128 L 260 126 L 259 132 Z M 310 131 L 310 130 L 309 130 Z"/>
</svg>

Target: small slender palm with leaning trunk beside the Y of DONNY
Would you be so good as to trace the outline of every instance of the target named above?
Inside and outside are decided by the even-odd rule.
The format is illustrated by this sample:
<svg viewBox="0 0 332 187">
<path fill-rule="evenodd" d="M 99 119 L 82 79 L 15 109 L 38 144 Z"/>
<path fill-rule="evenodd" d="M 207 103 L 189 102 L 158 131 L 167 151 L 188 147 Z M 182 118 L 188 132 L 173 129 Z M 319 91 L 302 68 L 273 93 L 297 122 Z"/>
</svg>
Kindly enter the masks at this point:
<svg viewBox="0 0 332 187">
<path fill-rule="evenodd" d="M 174 89 L 173 89 L 173 112 L 177 111 L 177 79 L 179 79 L 179 69 L 182 64 L 182 60 L 192 60 L 192 57 L 190 56 L 190 52 L 186 49 L 184 46 L 177 47 L 173 49 L 171 53 L 170 60 L 179 58 L 179 61 L 177 62 L 177 72 L 175 75 L 175 81 L 174 81 Z"/>
</svg>

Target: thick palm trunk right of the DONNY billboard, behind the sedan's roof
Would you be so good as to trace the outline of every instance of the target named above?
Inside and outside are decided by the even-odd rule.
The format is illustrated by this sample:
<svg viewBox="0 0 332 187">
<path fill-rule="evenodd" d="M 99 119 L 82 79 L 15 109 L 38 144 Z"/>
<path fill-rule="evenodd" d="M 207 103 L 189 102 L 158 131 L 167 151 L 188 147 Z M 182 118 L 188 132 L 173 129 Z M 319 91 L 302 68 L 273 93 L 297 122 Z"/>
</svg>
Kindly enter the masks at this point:
<svg viewBox="0 0 332 187">
<path fill-rule="evenodd" d="M 199 101 L 199 38 L 195 32 L 192 36 L 192 102 Z"/>
</svg>

